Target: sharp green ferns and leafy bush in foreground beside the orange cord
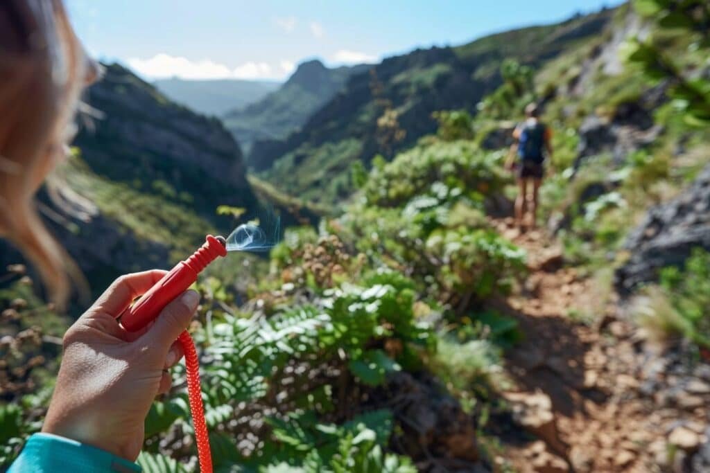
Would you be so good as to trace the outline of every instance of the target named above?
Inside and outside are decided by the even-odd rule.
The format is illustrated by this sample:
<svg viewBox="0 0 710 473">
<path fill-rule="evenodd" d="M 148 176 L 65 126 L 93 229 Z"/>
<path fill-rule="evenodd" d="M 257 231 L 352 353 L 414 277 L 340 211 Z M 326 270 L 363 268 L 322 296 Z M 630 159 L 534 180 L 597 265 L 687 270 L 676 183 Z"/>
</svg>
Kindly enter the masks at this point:
<svg viewBox="0 0 710 473">
<path fill-rule="evenodd" d="M 390 372 L 417 369 L 419 352 L 434 350 L 435 338 L 415 319 L 414 304 L 412 282 L 378 272 L 361 286 L 328 289 L 310 304 L 277 308 L 269 317 L 210 311 L 195 339 L 209 360 L 203 390 L 217 467 L 414 471 L 405 457 L 383 452 L 393 428 L 388 411 L 334 422 L 358 402 L 355 386 L 377 386 Z M 175 376 L 180 384 L 183 374 Z M 184 394 L 156 403 L 146 435 L 189 429 L 185 418 Z M 142 462 L 173 471 L 172 460 L 147 450 L 152 456 Z"/>
</svg>

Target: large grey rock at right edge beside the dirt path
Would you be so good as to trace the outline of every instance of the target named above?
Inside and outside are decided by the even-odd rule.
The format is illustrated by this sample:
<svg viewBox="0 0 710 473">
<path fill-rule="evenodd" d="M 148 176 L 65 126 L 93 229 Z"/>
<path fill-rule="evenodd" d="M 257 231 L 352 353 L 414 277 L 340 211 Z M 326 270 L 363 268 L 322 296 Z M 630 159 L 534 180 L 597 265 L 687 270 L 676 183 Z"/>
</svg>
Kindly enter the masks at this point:
<svg viewBox="0 0 710 473">
<path fill-rule="evenodd" d="M 657 279 L 658 269 L 682 266 L 694 247 L 710 250 L 710 166 L 676 199 L 651 208 L 630 233 L 630 258 L 616 271 L 616 289 L 628 296 Z"/>
</svg>

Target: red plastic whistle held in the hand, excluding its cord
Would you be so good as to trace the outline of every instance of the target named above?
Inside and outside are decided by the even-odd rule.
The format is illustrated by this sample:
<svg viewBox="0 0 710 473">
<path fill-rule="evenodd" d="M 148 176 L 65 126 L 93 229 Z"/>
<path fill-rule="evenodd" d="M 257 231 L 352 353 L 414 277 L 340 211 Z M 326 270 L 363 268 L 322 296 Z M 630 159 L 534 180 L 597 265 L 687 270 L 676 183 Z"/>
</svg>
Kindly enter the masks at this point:
<svg viewBox="0 0 710 473">
<path fill-rule="evenodd" d="M 138 299 L 121 317 L 121 324 L 129 332 L 135 332 L 145 327 L 158 317 L 160 311 L 170 301 L 187 291 L 190 285 L 197 281 L 197 274 L 218 256 L 226 256 L 226 241 L 224 237 L 207 235 L 204 245 L 192 253 L 185 261 L 179 262 L 160 281 Z"/>
</svg>

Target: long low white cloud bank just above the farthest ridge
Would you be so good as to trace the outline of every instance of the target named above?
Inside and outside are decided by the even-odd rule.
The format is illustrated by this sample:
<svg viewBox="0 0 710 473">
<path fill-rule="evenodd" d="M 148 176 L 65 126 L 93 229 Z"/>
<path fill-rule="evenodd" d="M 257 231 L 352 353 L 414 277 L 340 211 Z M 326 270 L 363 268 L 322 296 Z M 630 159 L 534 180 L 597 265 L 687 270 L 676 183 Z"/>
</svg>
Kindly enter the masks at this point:
<svg viewBox="0 0 710 473">
<path fill-rule="evenodd" d="M 126 62 L 131 69 L 148 79 L 284 79 L 295 68 L 293 62 L 288 60 L 281 60 L 278 66 L 250 61 L 230 68 L 209 59 L 192 61 L 163 52 L 149 59 L 131 57 Z"/>
</svg>

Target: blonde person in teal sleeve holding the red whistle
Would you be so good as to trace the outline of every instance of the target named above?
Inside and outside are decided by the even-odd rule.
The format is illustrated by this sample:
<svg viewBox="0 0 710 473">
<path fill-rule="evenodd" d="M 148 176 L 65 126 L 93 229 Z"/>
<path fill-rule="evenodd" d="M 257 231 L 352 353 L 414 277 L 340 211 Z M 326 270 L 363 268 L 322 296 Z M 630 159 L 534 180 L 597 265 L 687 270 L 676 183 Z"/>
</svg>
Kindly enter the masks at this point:
<svg viewBox="0 0 710 473">
<path fill-rule="evenodd" d="M 38 267 L 59 302 L 67 299 L 69 276 L 80 273 L 46 230 L 33 196 L 65 158 L 77 97 L 98 72 L 61 0 L 0 1 L 0 237 Z M 163 274 L 119 277 L 67 330 L 42 432 L 9 472 L 140 471 L 134 461 L 143 422 L 155 396 L 170 389 L 168 369 L 183 355 L 175 339 L 200 296 L 185 291 L 138 333 L 117 318 Z"/>
</svg>

